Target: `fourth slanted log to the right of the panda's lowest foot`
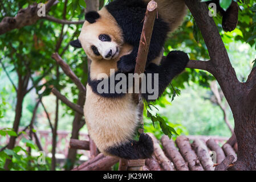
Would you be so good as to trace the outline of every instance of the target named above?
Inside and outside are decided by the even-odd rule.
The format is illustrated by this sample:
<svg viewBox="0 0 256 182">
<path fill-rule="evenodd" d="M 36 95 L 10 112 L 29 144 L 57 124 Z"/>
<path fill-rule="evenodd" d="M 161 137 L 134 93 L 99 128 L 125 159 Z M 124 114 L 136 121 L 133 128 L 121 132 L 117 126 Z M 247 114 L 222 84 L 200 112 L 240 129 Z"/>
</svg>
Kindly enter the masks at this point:
<svg viewBox="0 0 256 182">
<path fill-rule="evenodd" d="M 208 148 L 205 143 L 203 143 L 200 139 L 195 139 L 192 143 L 192 147 L 204 167 L 205 171 L 213 171 L 213 161 L 210 158 Z"/>
</svg>

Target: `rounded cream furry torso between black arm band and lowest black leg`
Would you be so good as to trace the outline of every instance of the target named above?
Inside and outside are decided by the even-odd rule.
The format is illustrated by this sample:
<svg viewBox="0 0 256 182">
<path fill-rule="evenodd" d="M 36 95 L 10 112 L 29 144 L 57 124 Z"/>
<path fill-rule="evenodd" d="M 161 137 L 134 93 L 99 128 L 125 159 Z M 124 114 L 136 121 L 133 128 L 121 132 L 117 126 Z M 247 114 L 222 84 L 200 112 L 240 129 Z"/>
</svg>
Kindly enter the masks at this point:
<svg viewBox="0 0 256 182">
<path fill-rule="evenodd" d="M 100 151 L 132 139 L 137 127 L 136 110 L 132 94 L 105 98 L 87 85 L 84 116 L 88 133 Z"/>
</svg>

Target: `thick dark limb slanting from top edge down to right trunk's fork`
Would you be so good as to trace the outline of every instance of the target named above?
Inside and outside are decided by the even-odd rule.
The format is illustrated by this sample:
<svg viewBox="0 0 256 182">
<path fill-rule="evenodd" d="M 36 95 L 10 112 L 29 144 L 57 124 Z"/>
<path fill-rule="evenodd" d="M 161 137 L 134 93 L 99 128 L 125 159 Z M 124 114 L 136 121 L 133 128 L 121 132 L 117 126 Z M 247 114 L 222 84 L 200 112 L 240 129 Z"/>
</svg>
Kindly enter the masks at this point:
<svg viewBox="0 0 256 182">
<path fill-rule="evenodd" d="M 196 20 L 205 40 L 209 51 L 210 63 L 214 68 L 212 74 L 218 80 L 231 109 L 234 109 L 239 105 L 239 99 L 243 97 L 244 86 L 235 75 L 218 28 L 213 18 L 208 15 L 209 10 L 206 3 L 201 3 L 199 0 L 185 0 L 185 3 Z"/>
</svg>

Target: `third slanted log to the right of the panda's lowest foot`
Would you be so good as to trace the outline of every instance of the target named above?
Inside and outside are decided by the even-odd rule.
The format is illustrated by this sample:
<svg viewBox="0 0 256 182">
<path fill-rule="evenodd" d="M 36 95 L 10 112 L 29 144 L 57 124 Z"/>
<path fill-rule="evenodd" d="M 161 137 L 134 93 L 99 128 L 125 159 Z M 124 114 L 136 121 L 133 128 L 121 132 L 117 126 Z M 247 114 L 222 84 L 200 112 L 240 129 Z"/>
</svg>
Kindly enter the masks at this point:
<svg viewBox="0 0 256 182">
<path fill-rule="evenodd" d="M 180 149 L 180 153 L 183 158 L 188 162 L 188 166 L 192 171 L 204 171 L 202 168 L 200 161 L 197 158 L 196 153 L 192 150 L 189 139 L 185 136 L 177 137 L 176 144 Z"/>
</svg>

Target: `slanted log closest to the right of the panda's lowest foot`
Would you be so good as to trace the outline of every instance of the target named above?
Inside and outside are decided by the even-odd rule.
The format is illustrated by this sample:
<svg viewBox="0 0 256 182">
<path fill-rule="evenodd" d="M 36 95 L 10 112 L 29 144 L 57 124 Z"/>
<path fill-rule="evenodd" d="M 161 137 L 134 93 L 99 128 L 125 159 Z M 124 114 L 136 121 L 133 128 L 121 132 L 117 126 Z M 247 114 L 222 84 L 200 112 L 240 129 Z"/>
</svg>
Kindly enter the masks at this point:
<svg viewBox="0 0 256 182">
<path fill-rule="evenodd" d="M 164 171 L 174 171 L 172 164 L 170 163 L 170 160 L 164 155 L 164 151 L 162 151 L 162 148 L 160 147 L 160 144 L 156 137 L 152 133 L 148 133 L 154 143 L 154 155 L 156 156 L 156 159 L 159 161 L 160 166 Z"/>
</svg>

